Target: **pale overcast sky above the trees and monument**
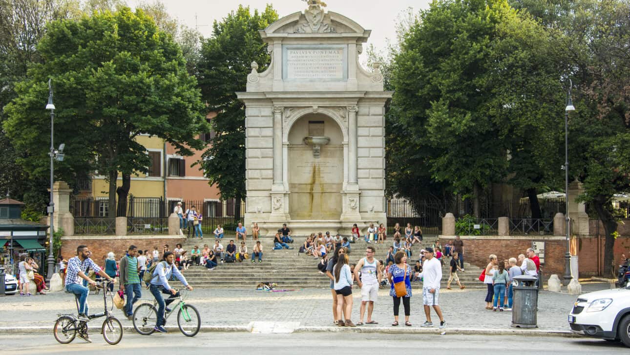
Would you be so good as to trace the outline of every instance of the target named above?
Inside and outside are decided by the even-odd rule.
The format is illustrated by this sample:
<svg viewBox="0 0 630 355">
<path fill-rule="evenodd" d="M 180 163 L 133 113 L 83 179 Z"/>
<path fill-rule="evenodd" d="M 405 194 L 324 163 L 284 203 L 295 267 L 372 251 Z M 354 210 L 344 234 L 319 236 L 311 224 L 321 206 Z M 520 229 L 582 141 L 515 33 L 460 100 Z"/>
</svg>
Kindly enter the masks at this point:
<svg viewBox="0 0 630 355">
<path fill-rule="evenodd" d="M 152 0 L 128 1 L 130 6 L 135 6 L 138 3 L 152 3 Z M 307 8 L 307 4 L 301 0 L 161 1 L 171 16 L 190 27 L 195 27 L 196 14 L 198 30 L 203 34 L 203 37 L 212 35 L 211 25 L 214 20 L 221 20 L 227 13 L 238 8 L 239 4 L 249 6 L 252 10 L 263 10 L 266 4 L 271 3 L 281 18 Z M 366 30 L 372 30 L 368 45 L 372 43 L 377 49 L 383 50 L 386 48 L 386 38 L 393 39 L 396 36 L 394 25 L 399 14 L 406 8 L 413 8 L 415 11 L 425 9 L 428 7 L 429 0 L 324 0 L 324 2 L 328 4 L 326 9 L 329 11 L 343 14 Z"/>
</svg>

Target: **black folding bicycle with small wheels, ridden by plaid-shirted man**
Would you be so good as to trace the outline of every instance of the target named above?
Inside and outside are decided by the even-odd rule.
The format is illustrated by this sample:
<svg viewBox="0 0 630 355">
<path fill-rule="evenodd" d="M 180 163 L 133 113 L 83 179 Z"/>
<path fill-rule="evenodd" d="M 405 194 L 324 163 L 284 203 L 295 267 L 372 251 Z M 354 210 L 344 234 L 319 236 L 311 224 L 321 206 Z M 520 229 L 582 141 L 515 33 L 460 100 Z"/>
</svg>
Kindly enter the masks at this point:
<svg viewBox="0 0 630 355">
<path fill-rule="evenodd" d="M 57 321 L 55 322 L 53 334 L 55 335 L 55 339 L 58 342 L 60 342 L 61 344 L 69 344 L 74 340 L 77 332 L 80 335 L 88 335 L 88 322 L 91 322 L 91 320 L 100 317 L 105 317 L 105 320 L 103 320 L 103 325 L 101 325 L 101 333 L 103 334 L 103 338 L 105 339 L 105 341 L 112 345 L 118 344 L 118 342 L 120 342 L 120 340 L 122 339 L 123 329 L 122 324 L 120 324 L 120 320 L 118 320 L 112 315 L 112 313 L 110 313 L 110 310 L 112 310 L 113 307 L 113 301 L 112 307 L 110 307 L 110 309 L 107 308 L 107 296 L 112 297 L 113 300 L 112 291 L 109 291 L 107 287 L 109 282 L 110 281 L 98 281 L 96 283 L 97 287 L 103 288 L 103 303 L 105 304 L 105 312 L 88 315 L 89 320 L 81 320 L 79 319 L 79 317 L 72 313 L 57 313 L 59 318 L 57 318 Z M 66 291 L 66 293 L 70 292 Z M 74 300 L 76 301 L 78 312 L 79 295 L 74 295 Z"/>
</svg>

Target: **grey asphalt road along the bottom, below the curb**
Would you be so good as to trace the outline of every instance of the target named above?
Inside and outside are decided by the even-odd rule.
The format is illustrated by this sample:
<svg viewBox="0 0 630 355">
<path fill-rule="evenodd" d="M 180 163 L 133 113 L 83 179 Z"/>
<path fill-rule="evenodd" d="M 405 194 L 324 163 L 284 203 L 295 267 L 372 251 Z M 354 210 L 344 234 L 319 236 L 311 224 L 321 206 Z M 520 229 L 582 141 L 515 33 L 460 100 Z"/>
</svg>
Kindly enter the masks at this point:
<svg viewBox="0 0 630 355">
<path fill-rule="evenodd" d="M 299 354 L 315 351 L 321 354 L 371 354 L 393 351 L 406 354 L 627 354 L 621 343 L 598 339 L 490 336 L 490 335 L 413 335 L 348 334 L 348 333 L 200 333 L 194 338 L 181 334 L 142 336 L 125 333 L 120 344 L 110 346 L 98 334 L 93 344 L 76 339 L 71 344 L 58 344 L 52 335 L 0 335 L 3 350 L 11 354 L 67 354 L 88 351 L 89 354 Z M 533 343 L 533 344 L 532 344 Z M 237 344 L 241 344 L 238 348 Z M 298 349 L 301 347 L 302 349 Z M 203 351 L 207 349 L 207 351 Z"/>
</svg>

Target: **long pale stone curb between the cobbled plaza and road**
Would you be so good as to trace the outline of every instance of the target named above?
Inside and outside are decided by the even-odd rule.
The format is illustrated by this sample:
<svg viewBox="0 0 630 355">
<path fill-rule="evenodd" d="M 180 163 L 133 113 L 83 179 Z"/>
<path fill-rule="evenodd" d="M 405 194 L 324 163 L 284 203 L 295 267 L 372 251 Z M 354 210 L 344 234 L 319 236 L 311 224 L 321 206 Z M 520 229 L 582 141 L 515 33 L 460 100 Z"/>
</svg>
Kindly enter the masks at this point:
<svg viewBox="0 0 630 355">
<path fill-rule="evenodd" d="M 98 324 L 100 325 L 100 324 Z M 38 325 L 33 327 L 0 327 L 0 335 L 16 335 L 16 334 L 50 334 L 52 335 L 52 327 L 45 325 Z M 98 332 L 100 327 L 91 327 L 91 332 Z M 179 332 L 178 327 L 169 325 L 165 327 L 169 332 Z M 134 327 L 132 325 L 123 325 L 125 332 L 131 332 L 135 334 Z M 202 325 L 199 332 L 251 332 L 252 325 Z M 462 329 L 462 328 L 446 328 L 438 329 L 433 328 L 420 328 L 416 327 L 316 327 L 316 326 L 302 326 L 296 327 L 292 332 L 353 332 L 353 333 L 381 333 L 381 334 L 428 334 L 438 335 L 442 332 L 446 332 L 449 335 L 527 335 L 527 336 L 556 336 L 556 337 L 580 337 L 580 335 L 573 334 L 568 330 L 540 330 L 540 329 Z M 286 332 L 283 332 L 286 333 Z M 290 333 L 290 332 L 289 332 Z"/>
</svg>

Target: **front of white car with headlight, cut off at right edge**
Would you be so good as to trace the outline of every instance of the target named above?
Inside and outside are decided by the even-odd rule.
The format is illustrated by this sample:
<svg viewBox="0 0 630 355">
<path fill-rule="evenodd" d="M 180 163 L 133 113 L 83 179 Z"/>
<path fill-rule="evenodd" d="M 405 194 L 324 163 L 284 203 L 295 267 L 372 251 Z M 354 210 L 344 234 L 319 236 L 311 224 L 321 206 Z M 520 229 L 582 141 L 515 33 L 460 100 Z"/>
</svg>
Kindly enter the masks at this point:
<svg viewBox="0 0 630 355">
<path fill-rule="evenodd" d="M 571 332 L 630 347 L 630 286 L 578 296 L 569 313 Z"/>
</svg>

